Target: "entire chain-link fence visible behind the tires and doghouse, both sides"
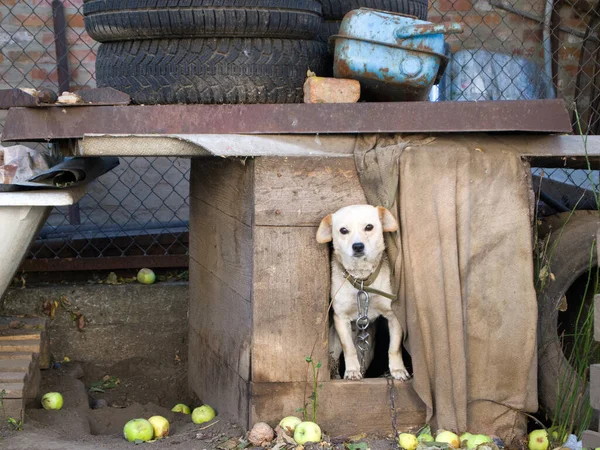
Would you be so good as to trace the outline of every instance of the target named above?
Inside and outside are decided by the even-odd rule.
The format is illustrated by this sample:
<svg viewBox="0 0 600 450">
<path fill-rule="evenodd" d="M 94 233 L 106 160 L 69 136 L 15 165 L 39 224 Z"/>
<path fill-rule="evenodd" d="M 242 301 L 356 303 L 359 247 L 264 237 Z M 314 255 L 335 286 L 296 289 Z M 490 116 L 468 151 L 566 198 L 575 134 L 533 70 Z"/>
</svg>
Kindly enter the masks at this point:
<svg viewBox="0 0 600 450">
<path fill-rule="evenodd" d="M 2 0 L 0 89 L 95 87 L 98 44 L 85 32 L 82 6 L 83 0 Z M 563 98 L 574 130 L 598 134 L 599 0 L 434 0 L 429 20 L 464 28 L 447 38 L 450 63 L 432 100 Z M 62 79 L 61 36 L 68 62 Z M 0 111 L 0 130 L 5 114 Z M 554 182 L 554 200 L 567 206 L 598 184 L 596 171 L 536 169 L 534 175 Z M 149 257 L 155 266 L 185 264 L 188 190 L 186 159 L 122 158 L 76 207 L 53 211 L 25 267 L 115 268 Z"/>
</svg>

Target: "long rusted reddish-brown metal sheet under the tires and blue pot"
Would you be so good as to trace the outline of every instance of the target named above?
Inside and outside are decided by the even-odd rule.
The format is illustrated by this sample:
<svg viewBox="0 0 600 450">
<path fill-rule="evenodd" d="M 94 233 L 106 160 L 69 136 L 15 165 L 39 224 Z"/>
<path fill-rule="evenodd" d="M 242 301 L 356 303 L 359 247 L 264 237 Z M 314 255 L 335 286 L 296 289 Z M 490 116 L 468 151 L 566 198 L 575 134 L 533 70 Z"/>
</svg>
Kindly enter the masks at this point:
<svg viewBox="0 0 600 450">
<path fill-rule="evenodd" d="M 9 111 L 2 141 L 85 134 L 570 133 L 562 100 L 82 106 Z"/>
</svg>

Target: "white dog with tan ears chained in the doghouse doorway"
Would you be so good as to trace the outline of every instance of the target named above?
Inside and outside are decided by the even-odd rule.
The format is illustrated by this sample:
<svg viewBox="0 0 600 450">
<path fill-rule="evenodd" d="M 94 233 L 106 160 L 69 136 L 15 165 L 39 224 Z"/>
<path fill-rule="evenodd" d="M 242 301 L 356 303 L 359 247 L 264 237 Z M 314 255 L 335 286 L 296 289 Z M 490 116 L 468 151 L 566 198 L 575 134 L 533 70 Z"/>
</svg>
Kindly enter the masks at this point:
<svg viewBox="0 0 600 450">
<path fill-rule="evenodd" d="M 346 206 L 325 217 L 317 230 L 317 242 L 333 241 L 333 319 L 344 351 L 344 378 L 349 380 L 359 380 L 364 375 L 352 332 L 352 322 L 358 316 L 357 293 L 361 283 L 367 292 L 370 291 L 369 322 L 379 316 L 388 321 L 392 377 L 397 380 L 410 378 L 402 360 L 402 326 L 392 311 L 392 298 L 395 296 L 391 292 L 390 266 L 383 240 L 384 232 L 396 230 L 398 223 L 391 212 L 381 206 L 370 205 Z"/>
</svg>

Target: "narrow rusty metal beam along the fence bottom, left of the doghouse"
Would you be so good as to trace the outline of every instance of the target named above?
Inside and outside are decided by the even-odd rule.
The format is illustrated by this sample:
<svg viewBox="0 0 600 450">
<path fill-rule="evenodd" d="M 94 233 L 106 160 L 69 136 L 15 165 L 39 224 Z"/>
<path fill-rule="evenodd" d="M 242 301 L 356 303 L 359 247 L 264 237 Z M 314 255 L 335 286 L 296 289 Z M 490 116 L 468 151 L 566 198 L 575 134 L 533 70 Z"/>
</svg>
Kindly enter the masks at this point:
<svg viewBox="0 0 600 450">
<path fill-rule="evenodd" d="M 120 270 L 142 267 L 187 267 L 187 255 L 115 256 L 103 258 L 28 259 L 21 270 L 25 272 L 63 272 L 71 270 Z"/>
</svg>

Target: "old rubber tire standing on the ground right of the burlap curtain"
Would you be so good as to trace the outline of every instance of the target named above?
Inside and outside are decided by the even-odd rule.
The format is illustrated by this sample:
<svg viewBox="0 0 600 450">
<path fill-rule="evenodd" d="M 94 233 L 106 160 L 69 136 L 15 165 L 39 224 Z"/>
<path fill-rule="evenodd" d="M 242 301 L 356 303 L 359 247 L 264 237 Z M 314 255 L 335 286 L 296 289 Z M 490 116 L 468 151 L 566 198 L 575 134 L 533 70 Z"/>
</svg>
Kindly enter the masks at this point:
<svg viewBox="0 0 600 450">
<path fill-rule="evenodd" d="M 577 376 L 563 351 L 558 331 L 559 306 L 575 281 L 590 270 L 590 256 L 592 267 L 598 264 L 596 247 L 592 252 L 599 225 L 598 212 L 576 211 L 569 218 L 570 214 L 557 214 L 544 224 L 545 231 L 551 232 L 547 248 L 553 249 L 549 250 L 549 268 L 554 280 L 548 278 L 538 293 L 538 386 L 540 406 L 550 417 L 559 407 L 558 383 Z M 581 298 L 566 299 L 568 309 L 579 308 Z M 589 396 L 589 392 L 582 394 Z"/>
</svg>

